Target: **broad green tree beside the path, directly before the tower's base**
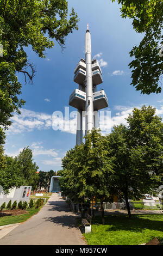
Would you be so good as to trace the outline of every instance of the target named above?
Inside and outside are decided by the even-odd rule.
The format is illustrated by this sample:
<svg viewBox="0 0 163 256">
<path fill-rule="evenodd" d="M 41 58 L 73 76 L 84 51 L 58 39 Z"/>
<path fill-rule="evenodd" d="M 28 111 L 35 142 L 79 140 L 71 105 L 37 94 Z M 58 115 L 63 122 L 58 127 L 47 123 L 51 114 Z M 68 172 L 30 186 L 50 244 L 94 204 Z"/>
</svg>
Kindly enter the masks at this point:
<svg viewBox="0 0 163 256">
<path fill-rule="evenodd" d="M 106 150 L 106 139 L 100 131 L 92 130 L 85 144 L 76 145 L 62 160 L 60 186 L 70 198 L 84 203 L 85 199 L 100 199 L 104 223 L 103 200 L 109 197 L 112 160 Z"/>
</svg>

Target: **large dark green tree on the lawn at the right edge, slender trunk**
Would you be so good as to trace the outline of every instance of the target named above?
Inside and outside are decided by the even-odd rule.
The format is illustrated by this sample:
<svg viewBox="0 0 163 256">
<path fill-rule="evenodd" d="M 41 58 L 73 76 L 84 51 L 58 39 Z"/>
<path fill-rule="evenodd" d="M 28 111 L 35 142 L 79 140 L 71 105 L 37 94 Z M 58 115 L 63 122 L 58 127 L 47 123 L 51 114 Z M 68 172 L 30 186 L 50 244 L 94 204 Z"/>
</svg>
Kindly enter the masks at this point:
<svg viewBox="0 0 163 256">
<path fill-rule="evenodd" d="M 108 138 L 110 156 L 115 157 L 115 174 L 110 190 L 122 192 L 128 215 L 128 199 L 140 199 L 158 188 L 162 177 L 162 123 L 155 108 L 134 108 L 127 118 L 128 127 L 115 126 Z"/>
</svg>

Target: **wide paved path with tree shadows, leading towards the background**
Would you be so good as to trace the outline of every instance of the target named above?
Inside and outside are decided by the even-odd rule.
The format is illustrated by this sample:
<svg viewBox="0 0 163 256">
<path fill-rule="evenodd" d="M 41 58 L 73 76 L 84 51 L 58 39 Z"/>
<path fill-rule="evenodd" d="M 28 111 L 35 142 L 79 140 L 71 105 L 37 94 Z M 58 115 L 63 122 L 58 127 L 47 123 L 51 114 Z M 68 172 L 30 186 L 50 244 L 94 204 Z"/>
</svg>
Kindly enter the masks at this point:
<svg viewBox="0 0 163 256">
<path fill-rule="evenodd" d="M 0 245 L 86 245 L 77 216 L 54 193 L 38 214 L 3 236 Z"/>
</svg>

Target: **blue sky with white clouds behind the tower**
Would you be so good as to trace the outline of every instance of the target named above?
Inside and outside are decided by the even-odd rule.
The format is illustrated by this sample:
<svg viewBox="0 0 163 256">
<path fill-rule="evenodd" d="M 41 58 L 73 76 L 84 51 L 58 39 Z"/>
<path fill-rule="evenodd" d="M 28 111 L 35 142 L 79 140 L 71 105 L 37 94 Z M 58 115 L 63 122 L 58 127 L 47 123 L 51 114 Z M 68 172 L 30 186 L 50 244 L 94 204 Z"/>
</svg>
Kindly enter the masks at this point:
<svg viewBox="0 0 163 256">
<path fill-rule="evenodd" d="M 98 90 L 103 88 L 108 96 L 111 127 L 125 124 L 131 110 L 144 104 L 156 107 L 156 113 L 163 117 L 162 94 L 141 95 L 130 86 L 129 51 L 139 44 L 143 35 L 134 31 L 129 19 L 121 18 L 120 5 L 109 0 L 69 0 L 68 5 L 78 13 L 79 30 L 67 36 L 63 52 L 54 41 L 54 47 L 46 50 L 46 59 L 37 57 L 31 47 L 26 49 L 28 59 L 36 66 L 36 76 L 31 85 L 25 84 L 23 75 L 18 74 L 22 83 L 21 97 L 26 100 L 26 105 L 21 115 L 15 114 L 12 118 L 4 145 L 5 154 L 10 156 L 16 156 L 29 145 L 34 161 L 44 171 L 61 169 L 61 158 L 76 143 L 74 130 L 52 129 L 52 114 L 61 111 L 64 115 L 70 94 L 78 88 L 73 82 L 73 72 L 79 59 L 85 57 L 87 22 L 91 32 L 92 57 L 99 60 L 103 74 L 103 84 L 98 86 Z M 71 111 L 76 109 L 70 107 Z M 75 119 L 72 122 L 75 123 Z"/>
</svg>

